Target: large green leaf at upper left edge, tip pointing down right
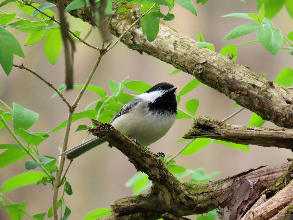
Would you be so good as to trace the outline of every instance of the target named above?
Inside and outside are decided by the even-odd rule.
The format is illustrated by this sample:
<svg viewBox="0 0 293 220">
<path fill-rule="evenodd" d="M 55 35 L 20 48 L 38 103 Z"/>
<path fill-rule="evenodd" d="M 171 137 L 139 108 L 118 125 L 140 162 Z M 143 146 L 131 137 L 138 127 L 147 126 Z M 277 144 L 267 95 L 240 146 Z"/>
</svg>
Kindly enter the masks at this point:
<svg viewBox="0 0 293 220">
<path fill-rule="evenodd" d="M 21 45 L 12 33 L 0 26 L 0 49 L 8 53 L 13 53 L 20 57 L 25 57 Z"/>
</svg>

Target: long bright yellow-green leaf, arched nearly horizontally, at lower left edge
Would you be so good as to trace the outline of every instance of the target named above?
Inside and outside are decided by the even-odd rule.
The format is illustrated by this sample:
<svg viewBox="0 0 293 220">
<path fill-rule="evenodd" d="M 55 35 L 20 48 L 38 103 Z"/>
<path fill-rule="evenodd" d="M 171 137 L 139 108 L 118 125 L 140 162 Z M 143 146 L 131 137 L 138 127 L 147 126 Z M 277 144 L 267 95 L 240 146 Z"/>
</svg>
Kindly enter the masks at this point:
<svg viewBox="0 0 293 220">
<path fill-rule="evenodd" d="M 36 184 L 40 179 L 42 179 L 45 176 L 45 173 L 36 171 L 18 174 L 4 182 L 4 184 L 1 187 L 1 193 L 6 193 L 23 186 Z"/>
</svg>

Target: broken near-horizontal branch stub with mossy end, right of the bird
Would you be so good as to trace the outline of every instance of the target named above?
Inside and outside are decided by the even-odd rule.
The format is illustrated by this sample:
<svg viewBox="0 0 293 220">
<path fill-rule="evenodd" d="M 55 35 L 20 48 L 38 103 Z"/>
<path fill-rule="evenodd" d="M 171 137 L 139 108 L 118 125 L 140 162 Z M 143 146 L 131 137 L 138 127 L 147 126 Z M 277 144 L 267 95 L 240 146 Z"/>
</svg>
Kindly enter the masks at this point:
<svg viewBox="0 0 293 220">
<path fill-rule="evenodd" d="M 184 138 L 213 138 L 239 144 L 279 147 L 293 150 L 293 131 L 283 127 L 229 125 L 204 116 L 196 119 Z"/>
</svg>

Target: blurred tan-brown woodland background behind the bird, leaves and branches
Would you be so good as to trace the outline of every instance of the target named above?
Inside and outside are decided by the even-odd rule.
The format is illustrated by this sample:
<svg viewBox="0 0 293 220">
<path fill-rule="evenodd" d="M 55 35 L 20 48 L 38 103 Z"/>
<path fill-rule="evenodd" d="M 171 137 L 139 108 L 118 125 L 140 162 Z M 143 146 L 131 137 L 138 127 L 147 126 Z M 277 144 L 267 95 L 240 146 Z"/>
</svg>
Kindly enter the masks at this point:
<svg viewBox="0 0 293 220">
<path fill-rule="evenodd" d="M 196 3 L 195 0 L 193 2 Z M 35 3 L 43 4 L 45 1 L 37 0 Z M 239 39 L 223 42 L 222 40 L 229 31 L 236 26 L 251 21 L 244 18 L 221 17 L 234 12 L 257 13 L 256 1 L 249 0 L 243 4 L 238 0 L 209 0 L 204 6 L 201 4 L 196 5 L 196 8 L 198 16 L 194 16 L 191 12 L 176 4 L 172 11 L 175 14 L 175 19 L 167 22 L 167 24 L 195 40 L 197 40 L 197 29 L 200 29 L 205 41 L 213 43 L 217 52 L 229 44 L 257 39 L 256 33 L 252 33 Z M 15 9 L 12 3 L 1 8 L 6 12 L 15 12 Z M 84 37 L 90 29 L 88 23 L 77 18 L 68 16 L 68 20 L 72 31 L 82 31 L 81 37 Z M 293 22 L 285 8 L 273 18 L 273 22 L 274 26 L 280 28 L 284 35 L 292 31 Z M 26 33 L 11 29 L 9 31 L 16 35 L 21 45 L 24 44 Z M 93 45 L 100 46 L 99 31 L 95 29 L 87 41 Z M 43 40 L 36 45 L 23 46 L 26 58 L 22 59 L 15 56 L 14 63 L 23 63 L 26 67 L 38 72 L 42 77 L 54 84 L 55 87 L 59 87 L 60 84 L 64 84 L 65 78 L 63 51 L 59 60 L 53 66 L 44 55 L 42 42 Z M 84 84 L 98 57 L 98 53 L 82 43 L 77 43 L 76 47 L 74 84 Z M 281 50 L 273 57 L 260 43 L 238 46 L 237 49 L 238 58 L 236 62 L 248 65 L 251 70 L 259 74 L 265 73 L 270 80 L 274 80 L 283 68 L 292 68 L 292 55 L 289 55 L 287 50 Z M 130 80 L 142 80 L 152 85 L 159 82 L 170 82 L 178 87 L 179 92 L 193 77 L 183 72 L 168 76 L 173 70 L 175 68 L 171 65 L 146 54 L 140 55 L 137 51 L 130 50 L 122 43 L 118 43 L 103 57 L 90 84 L 102 87 L 110 94 L 109 78 L 120 82 L 129 76 Z M 50 98 L 54 94 L 53 90 L 30 72 L 13 67 L 9 76 L 6 76 L 2 69 L 0 73 L 0 99 L 11 107 L 12 103 L 16 102 L 40 114 L 39 120 L 30 128 L 30 131 L 50 131 L 67 118 L 68 109 L 64 102 L 59 97 Z M 74 89 L 64 92 L 64 96 L 69 100 L 69 103 L 72 103 L 78 92 L 79 89 Z M 89 103 L 99 98 L 92 92 L 85 92 L 76 112 L 83 111 Z M 189 94 L 183 96 L 179 108 L 185 109 L 185 102 L 193 98 L 200 101 L 196 117 L 208 115 L 214 119 L 222 120 L 236 111 L 236 109 L 233 109 L 235 103 L 233 100 L 212 88 L 206 88 L 205 85 L 200 85 Z M 252 112 L 244 110 L 230 119 L 228 123 L 247 125 L 251 114 Z M 81 120 L 72 124 L 69 148 L 81 143 L 86 135 L 86 131 L 74 133 L 79 124 L 89 126 L 90 121 Z M 164 152 L 166 156 L 175 155 L 183 148 L 186 142 L 174 143 L 174 141 L 181 138 L 191 124 L 192 121 L 188 119 L 177 120 L 165 137 L 150 146 L 151 150 Z M 273 126 L 273 124 L 266 122 L 265 126 Z M 51 137 L 39 146 L 40 153 L 58 157 L 59 147 L 63 143 L 63 135 L 64 129 L 52 133 Z M 0 133 L 0 143 L 15 143 L 5 128 Z M 192 170 L 202 167 L 208 174 L 214 171 L 221 171 L 222 173 L 216 177 L 220 179 L 251 167 L 279 165 L 286 162 L 286 158 L 292 158 L 293 156 L 290 150 L 285 149 L 259 146 L 250 146 L 250 149 L 251 152 L 248 153 L 213 143 L 194 155 L 178 156 L 176 164 Z M 10 177 L 26 172 L 24 163 L 27 160 L 29 160 L 28 157 L 1 169 L 0 185 Z M 40 169 L 37 168 L 36 170 Z M 117 149 L 109 148 L 107 144 L 95 148 L 91 150 L 91 153 L 74 160 L 67 174 L 67 180 L 71 183 L 73 195 L 70 197 L 65 196 L 65 201 L 72 210 L 69 219 L 82 219 L 94 209 L 110 207 L 110 204 L 116 199 L 132 195 L 132 189 L 126 188 L 125 182 L 134 174 L 136 174 L 136 170 L 127 161 L 127 158 Z M 188 179 L 184 180 L 187 181 Z M 31 185 L 9 192 L 6 196 L 16 203 L 25 200 L 27 212 L 33 215 L 47 212 L 52 205 L 51 188 L 50 185 Z M 0 209 L 0 220 L 5 219 L 9 219 L 9 217 L 6 211 Z M 28 217 L 25 216 L 23 219 L 28 219 Z"/>
</svg>

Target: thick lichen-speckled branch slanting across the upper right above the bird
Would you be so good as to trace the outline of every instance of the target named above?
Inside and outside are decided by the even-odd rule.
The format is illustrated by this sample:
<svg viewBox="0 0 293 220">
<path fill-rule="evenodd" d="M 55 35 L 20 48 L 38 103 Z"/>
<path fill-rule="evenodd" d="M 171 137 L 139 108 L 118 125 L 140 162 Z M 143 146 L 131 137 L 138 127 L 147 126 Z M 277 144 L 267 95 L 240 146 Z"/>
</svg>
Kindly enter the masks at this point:
<svg viewBox="0 0 293 220">
<path fill-rule="evenodd" d="M 54 2 L 56 0 L 47 0 Z M 71 1 L 66 1 L 69 4 Z M 111 33 L 117 37 L 136 20 L 136 7 L 125 5 L 127 10 L 111 21 Z M 71 15 L 90 22 L 84 8 L 71 11 Z M 145 52 L 163 62 L 187 72 L 198 80 L 224 93 L 236 103 L 257 113 L 278 126 L 293 128 L 293 93 L 286 87 L 274 84 L 249 68 L 207 48 L 198 49 L 195 40 L 160 23 L 156 40 L 148 42 L 142 36 L 140 25 L 134 26 L 121 38 L 127 47 Z"/>
</svg>

